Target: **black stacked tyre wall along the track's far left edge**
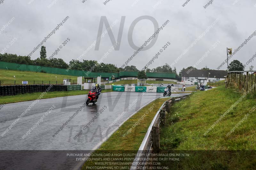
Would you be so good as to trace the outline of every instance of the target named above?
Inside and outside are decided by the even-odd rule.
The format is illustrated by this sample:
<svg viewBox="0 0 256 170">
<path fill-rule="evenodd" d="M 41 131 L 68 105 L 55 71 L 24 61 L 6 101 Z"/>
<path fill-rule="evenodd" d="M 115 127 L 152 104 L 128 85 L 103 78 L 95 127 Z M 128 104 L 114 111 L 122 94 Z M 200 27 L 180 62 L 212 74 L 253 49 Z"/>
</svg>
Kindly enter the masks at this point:
<svg viewBox="0 0 256 170">
<path fill-rule="evenodd" d="M 53 91 L 67 91 L 66 85 L 4 85 L 0 86 L 0 96 L 12 96 L 17 94 L 44 92 L 46 89 Z M 81 87 L 80 87 L 81 89 Z"/>
</svg>

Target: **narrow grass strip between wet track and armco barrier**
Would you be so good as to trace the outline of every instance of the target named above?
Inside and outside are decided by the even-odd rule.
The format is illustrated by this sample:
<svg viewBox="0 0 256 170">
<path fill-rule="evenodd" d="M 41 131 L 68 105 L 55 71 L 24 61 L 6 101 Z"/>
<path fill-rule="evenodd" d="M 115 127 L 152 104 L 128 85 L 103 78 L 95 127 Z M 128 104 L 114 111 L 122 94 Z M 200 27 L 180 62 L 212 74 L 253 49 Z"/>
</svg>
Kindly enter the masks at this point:
<svg viewBox="0 0 256 170">
<path fill-rule="evenodd" d="M 136 153 L 148 130 L 150 123 L 156 115 L 156 112 L 161 107 L 163 102 L 168 99 L 169 98 L 156 99 L 146 107 L 140 109 L 138 113 L 133 115 L 128 121 L 124 122 L 124 124 L 115 133 L 113 133 L 108 138 L 108 140 L 105 141 L 94 153 L 102 153 L 104 151 L 134 151 Z M 143 120 L 141 119 L 142 117 Z M 140 123 L 132 128 L 133 125 L 138 122 L 138 120 L 141 120 Z M 129 129 L 130 133 L 128 131 Z M 123 135 L 125 137 L 123 137 Z M 96 162 L 98 161 L 87 161 L 83 165 L 82 169 L 85 170 L 86 166 L 95 166 Z M 111 167 L 114 167 L 115 169 L 116 165 Z"/>
</svg>

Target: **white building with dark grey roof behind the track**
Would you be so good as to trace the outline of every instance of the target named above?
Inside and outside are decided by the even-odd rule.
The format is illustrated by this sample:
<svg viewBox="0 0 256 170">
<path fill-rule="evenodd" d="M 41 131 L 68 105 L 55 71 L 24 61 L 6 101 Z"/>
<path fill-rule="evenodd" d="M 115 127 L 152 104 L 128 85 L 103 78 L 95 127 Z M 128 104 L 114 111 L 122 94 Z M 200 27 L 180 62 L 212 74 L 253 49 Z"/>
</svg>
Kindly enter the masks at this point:
<svg viewBox="0 0 256 170">
<path fill-rule="evenodd" d="M 224 76 L 227 76 L 225 70 L 183 70 L 181 82 L 188 85 L 194 85 L 195 82 L 200 81 L 203 85 L 206 85 L 209 81 L 225 80 Z"/>
</svg>

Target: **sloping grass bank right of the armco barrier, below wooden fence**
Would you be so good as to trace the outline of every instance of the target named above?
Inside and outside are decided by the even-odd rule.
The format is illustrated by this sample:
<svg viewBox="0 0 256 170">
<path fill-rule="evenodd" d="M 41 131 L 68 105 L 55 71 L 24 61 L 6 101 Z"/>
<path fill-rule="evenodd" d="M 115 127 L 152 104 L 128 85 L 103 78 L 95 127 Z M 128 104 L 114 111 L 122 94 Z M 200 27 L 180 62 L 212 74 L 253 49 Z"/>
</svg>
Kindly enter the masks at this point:
<svg viewBox="0 0 256 170">
<path fill-rule="evenodd" d="M 256 114 L 255 111 L 250 113 L 256 105 L 255 96 L 247 95 L 212 128 L 240 97 L 240 93 L 225 89 L 223 85 L 209 91 L 197 91 L 167 117 L 169 125 L 162 128 L 160 135 L 162 153 L 201 151 L 200 154 L 194 154 L 182 161 L 172 162 L 174 169 L 198 169 L 202 166 L 203 169 L 251 169 L 256 166 L 255 153 L 243 152 L 239 155 L 232 152 L 256 150 Z M 178 105 L 176 103 L 171 110 Z M 236 127 L 248 113 L 248 118 Z M 212 129 L 207 132 L 209 128 Z M 231 134 L 228 134 L 230 131 Z M 210 152 L 214 150 L 218 152 Z M 222 154 L 225 157 L 222 158 Z M 249 157 L 250 154 L 254 156 Z M 163 163 L 171 165 L 168 162 Z"/>
</svg>

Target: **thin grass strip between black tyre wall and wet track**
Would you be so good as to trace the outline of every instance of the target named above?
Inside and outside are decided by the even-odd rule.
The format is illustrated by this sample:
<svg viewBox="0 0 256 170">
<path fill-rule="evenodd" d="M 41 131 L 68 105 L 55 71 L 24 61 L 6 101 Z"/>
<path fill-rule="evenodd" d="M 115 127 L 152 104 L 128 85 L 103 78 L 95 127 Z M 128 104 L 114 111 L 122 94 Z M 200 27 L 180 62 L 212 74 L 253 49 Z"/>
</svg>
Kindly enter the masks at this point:
<svg viewBox="0 0 256 170">
<path fill-rule="evenodd" d="M 112 89 L 102 90 L 102 92 L 112 92 Z M 75 96 L 88 94 L 88 90 L 74 90 L 64 92 L 47 92 L 43 99 L 50 99 L 55 97 Z M 36 100 L 41 95 L 41 92 L 19 94 L 15 96 L 2 96 L 0 97 L 0 104 L 17 103 L 22 101 Z"/>
</svg>

